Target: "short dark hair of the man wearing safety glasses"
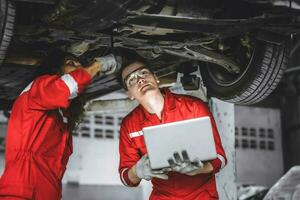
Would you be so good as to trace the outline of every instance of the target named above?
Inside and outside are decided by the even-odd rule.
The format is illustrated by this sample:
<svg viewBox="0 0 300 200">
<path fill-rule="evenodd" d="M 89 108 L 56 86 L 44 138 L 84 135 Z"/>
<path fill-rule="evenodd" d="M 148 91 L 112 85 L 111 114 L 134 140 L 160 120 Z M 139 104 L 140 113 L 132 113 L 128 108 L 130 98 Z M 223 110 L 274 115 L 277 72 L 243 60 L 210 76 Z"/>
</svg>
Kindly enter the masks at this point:
<svg viewBox="0 0 300 200">
<path fill-rule="evenodd" d="M 141 57 L 140 55 L 131 53 L 131 54 L 128 54 L 126 57 L 123 57 L 122 58 L 122 66 L 121 66 L 117 76 L 118 76 L 118 82 L 125 90 L 128 90 L 128 88 L 127 88 L 126 84 L 124 83 L 124 80 L 122 78 L 122 73 L 129 65 L 131 65 L 133 63 L 144 64 L 145 68 L 149 69 L 149 71 L 153 73 L 150 63 L 145 58 Z"/>
</svg>

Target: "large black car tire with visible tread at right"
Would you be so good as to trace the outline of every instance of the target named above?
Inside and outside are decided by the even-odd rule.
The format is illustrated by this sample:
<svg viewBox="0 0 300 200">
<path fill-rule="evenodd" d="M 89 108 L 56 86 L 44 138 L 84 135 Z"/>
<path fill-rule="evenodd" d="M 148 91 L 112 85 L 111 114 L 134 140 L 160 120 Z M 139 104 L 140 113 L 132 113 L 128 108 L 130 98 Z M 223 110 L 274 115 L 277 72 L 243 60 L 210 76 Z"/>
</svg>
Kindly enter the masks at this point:
<svg viewBox="0 0 300 200">
<path fill-rule="evenodd" d="M 275 44 L 255 41 L 249 63 L 233 75 L 214 64 L 201 68 L 208 96 L 239 105 L 250 105 L 265 99 L 277 86 L 287 67 L 288 49 L 284 42 Z"/>
</svg>

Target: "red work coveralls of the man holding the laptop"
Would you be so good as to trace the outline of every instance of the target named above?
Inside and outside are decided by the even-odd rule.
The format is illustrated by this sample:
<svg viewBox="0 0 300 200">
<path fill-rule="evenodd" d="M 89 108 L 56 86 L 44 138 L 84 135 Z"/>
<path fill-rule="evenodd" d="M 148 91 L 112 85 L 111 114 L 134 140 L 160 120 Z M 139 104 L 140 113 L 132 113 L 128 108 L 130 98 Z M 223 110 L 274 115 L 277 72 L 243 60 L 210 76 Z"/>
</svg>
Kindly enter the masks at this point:
<svg viewBox="0 0 300 200">
<path fill-rule="evenodd" d="M 126 186 L 134 185 L 128 178 L 129 169 L 146 154 L 146 147 L 142 133 L 143 127 L 170 123 L 180 120 L 209 116 L 212 122 L 213 136 L 216 143 L 218 157 L 211 160 L 213 172 L 188 176 L 177 172 L 169 172 L 168 180 L 152 179 L 153 191 L 151 200 L 208 200 L 218 199 L 215 173 L 227 163 L 220 136 L 215 121 L 206 104 L 200 99 L 186 95 L 173 94 L 164 90 L 164 107 L 162 119 L 155 114 L 148 113 L 141 105 L 136 107 L 122 121 L 120 131 L 120 164 L 119 173 Z M 199 131 L 199 134 L 201 132 Z M 188 136 L 188 132 L 186 132 Z"/>
</svg>

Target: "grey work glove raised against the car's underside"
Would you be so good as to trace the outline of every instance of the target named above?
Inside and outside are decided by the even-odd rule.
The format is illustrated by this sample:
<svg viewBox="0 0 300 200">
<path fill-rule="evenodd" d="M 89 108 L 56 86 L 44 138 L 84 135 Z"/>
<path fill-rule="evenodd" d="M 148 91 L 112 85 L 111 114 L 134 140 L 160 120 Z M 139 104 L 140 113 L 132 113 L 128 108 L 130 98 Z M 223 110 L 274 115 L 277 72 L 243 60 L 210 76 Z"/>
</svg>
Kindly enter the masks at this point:
<svg viewBox="0 0 300 200">
<path fill-rule="evenodd" d="M 102 64 L 101 73 L 105 75 L 115 73 L 121 66 L 121 57 L 114 56 L 113 54 L 96 57 L 95 61 Z"/>
</svg>

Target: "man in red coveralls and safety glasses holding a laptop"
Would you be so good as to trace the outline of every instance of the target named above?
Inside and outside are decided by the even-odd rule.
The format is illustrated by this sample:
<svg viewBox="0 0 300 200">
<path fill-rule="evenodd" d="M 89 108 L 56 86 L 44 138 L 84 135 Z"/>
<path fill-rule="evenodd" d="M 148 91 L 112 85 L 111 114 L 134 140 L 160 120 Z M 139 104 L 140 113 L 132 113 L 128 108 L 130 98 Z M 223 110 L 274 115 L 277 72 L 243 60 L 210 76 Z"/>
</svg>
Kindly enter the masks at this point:
<svg viewBox="0 0 300 200">
<path fill-rule="evenodd" d="M 123 184 L 135 187 L 141 179 L 151 180 L 151 200 L 218 199 L 215 174 L 225 166 L 227 159 L 207 105 L 195 97 L 173 94 L 168 89 L 161 91 L 158 78 L 140 58 L 129 59 L 120 70 L 120 78 L 129 98 L 140 103 L 121 124 L 119 173 Z M 211 118 L 217 158 L 207 162 L 191 161 L 186 152 L 174 152 L 168 160 L 172 171 L 152 170 L 142 128 L 203 116 Z"/>
</svg>

